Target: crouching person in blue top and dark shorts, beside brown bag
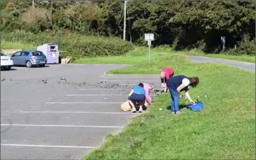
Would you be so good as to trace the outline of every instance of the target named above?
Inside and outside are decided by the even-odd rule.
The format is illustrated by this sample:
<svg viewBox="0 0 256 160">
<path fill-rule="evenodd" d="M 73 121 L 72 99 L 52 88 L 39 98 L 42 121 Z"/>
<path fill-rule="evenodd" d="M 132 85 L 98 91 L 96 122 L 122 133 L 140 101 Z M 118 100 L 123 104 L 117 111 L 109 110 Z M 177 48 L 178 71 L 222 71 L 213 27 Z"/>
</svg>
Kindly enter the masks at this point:
<svg viewBox="0 0 256 160">
<path fill-rule="evenodd" d="M 139 112 L 143 112 L 142 106 L 146 100 L 146 92 L 144 90 L 144 85 L 139 83 L 139 85 L 135 85 L 132 88 L 132 91 L 129 93 L 129 105 L 132 107 L 131 112 L 136 112 L 136 108 L 134 105 L 139 105 Z"/>
</svg>

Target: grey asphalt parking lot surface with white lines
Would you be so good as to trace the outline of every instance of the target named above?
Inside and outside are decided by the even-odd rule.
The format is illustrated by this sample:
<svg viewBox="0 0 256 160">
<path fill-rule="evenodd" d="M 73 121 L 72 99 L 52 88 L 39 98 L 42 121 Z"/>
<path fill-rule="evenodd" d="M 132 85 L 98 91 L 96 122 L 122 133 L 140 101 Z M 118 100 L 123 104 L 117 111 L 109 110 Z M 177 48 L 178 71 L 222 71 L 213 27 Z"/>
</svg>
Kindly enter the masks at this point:
<svg viewBox="0 0 256 160">
<path fill-rule="evenodd" d="M 157 75 L 104 75 L 124 66 L 1 71 L 1 159 L 81 159 L 119 132 L 137 115 L 120 110 L 132 86 L 161 85 Z"/>
</svg>

